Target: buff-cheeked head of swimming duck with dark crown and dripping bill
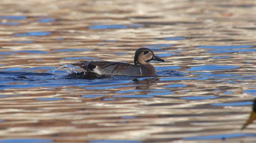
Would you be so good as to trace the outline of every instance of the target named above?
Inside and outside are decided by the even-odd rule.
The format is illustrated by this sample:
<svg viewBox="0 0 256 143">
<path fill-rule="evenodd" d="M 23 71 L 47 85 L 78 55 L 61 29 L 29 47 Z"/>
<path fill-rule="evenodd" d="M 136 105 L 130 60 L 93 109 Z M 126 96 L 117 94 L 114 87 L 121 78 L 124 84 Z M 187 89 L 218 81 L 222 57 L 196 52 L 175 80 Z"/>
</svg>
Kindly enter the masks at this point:
<svg viewBox="0 0 256 143">
<path fill-rule="evenodd" d="M 164 62 L 163 59 L 156 57 L 153 53 L 153 51 L 151 51 L 148 48 L 139 48 L 136 52 L 135 52 L 135 56 L 134 56 L 134 64 L 138 65 L 138 64 L 149 64 L 149 61 L 162 61 Z"/>
</svg>

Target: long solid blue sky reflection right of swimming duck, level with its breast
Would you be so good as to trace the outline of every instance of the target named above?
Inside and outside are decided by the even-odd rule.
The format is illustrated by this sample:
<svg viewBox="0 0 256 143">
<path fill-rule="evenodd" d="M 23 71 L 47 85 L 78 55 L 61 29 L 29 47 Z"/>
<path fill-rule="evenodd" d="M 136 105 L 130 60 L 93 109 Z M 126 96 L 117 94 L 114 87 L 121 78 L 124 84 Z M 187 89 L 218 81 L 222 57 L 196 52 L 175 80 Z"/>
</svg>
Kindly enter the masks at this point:
<svg viewBox="0 0 256 143">
<path fill-rule="evenodd" d="M 191 67 L 187 71 L 199 71 L 199 70 L 227 70 L 227 69 L 236 69 L 238 66 L 222 66 L 222 65 L 205 65 L 205 66 L 195 66 Z"/>
</svg>

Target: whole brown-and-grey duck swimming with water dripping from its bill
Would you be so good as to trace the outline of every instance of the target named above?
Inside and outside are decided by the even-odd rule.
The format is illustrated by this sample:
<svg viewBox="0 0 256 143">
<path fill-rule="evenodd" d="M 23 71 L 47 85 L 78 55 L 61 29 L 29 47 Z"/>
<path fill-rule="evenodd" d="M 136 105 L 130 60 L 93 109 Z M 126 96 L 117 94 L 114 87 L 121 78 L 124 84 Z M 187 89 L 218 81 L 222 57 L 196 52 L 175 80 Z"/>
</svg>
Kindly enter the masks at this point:
<svg viewBox="0 0 256 143">
<path fill-rule="evenodd" d="M 80 61 L 73 66 L 83 68 L 84 74 L 120 75 L 120 76 L 155 76 L 155 67 L 150 61 L 161 61 L 149 48 L 139 48 L 135 51 L 134 64 L 113 61 Z"/>
</svg>

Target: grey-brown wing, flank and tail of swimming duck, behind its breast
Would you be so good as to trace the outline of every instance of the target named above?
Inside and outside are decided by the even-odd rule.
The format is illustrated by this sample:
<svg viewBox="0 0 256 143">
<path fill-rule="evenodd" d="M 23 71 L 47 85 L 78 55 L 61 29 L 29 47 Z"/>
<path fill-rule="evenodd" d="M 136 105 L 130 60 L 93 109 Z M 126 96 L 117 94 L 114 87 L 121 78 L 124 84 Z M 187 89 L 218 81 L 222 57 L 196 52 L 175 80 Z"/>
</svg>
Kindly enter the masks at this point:
<svg viewBox="0 0 256 143">
<path fill-rule="evenodd" d="M 102 75 L 141 76 L 142 74 L 139 66 L 113 61 L 80 61 L 72 65 Z"/>
</svg>

